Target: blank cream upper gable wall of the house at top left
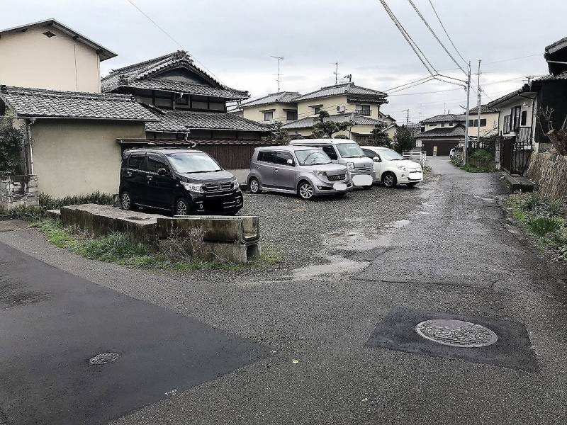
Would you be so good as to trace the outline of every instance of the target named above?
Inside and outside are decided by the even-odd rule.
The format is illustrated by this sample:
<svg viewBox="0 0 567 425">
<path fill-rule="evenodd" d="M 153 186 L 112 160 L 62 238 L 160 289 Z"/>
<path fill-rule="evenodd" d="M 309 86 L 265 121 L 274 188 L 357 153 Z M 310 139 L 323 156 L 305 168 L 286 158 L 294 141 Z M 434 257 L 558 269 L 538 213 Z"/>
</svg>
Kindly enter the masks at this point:
<svg viewBox="0 0 567 425">
<path fill-rule="evenodd" d="M 47 30 L 55 34 L 48 38 Z M 100 93 L 99 55 L 50 26 L 0 37 L 0 84 Z"/>
</svg>

